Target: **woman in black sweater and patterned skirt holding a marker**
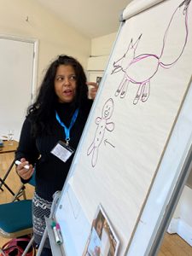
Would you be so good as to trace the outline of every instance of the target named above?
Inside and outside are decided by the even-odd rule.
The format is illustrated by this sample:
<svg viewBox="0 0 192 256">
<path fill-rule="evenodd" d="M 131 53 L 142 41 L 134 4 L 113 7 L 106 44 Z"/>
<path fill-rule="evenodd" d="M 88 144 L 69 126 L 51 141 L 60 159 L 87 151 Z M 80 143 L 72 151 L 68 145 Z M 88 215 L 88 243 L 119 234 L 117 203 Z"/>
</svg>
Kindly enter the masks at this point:
<svg viewBox="0 0 192 256">
<path fill-rule="evenodd" d="M 94 95 L 96 84 L 87 84 L 95 85 Z M 22 182 L 27 183 L 35 166 L 32 218 L 37 244 L 44 234 L 44 216 L 49 217 L 52 196 L 62 189 L 74 155 L 72 153 L 63 161 L 51 151 L 59 141 L 68 151 L 78 147 L 92 105 L 92 100 L 88 99 L 87 84 L 79 61 L 60 55 L 50 64 L 37 100 L 27 110 L 16 151 L 16 159 L 21 162 L 16 172 Z M 30 166 L 28 170 L 24 167 L 26 165 Z M 44 247 L 41 255 L 51 255 L 49 241 Z"/>
</svg>

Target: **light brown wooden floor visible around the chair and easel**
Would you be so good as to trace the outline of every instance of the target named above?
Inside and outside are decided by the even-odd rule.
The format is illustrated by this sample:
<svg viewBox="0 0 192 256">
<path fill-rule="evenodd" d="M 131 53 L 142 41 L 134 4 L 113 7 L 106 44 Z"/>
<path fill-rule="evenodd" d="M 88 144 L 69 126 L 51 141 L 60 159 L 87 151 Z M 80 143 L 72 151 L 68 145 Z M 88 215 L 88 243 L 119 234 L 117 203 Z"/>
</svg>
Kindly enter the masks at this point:
<svg viewBox="0 0 192 256">
<path fill-rule="evenodd" d="M 0 154 L 0 177 L 3 177 L 4 173 L 7 171 L 11 161 L 14 159 L 14 153 L 9 154 Z M 9 187 L 15 191 L 20 187 L 20 179 L 15 172 L 15 166 L 9 174 L 9 177 L 6 180 Z M 12 195 L 10 195 L 9 191 L 3 188 L 4 191 L 0 190 L 0 204 L 10 202 L 12 200 Z M 34 188 L 31 185 L 26 184 L 26 198 L 32 198 Z M 3 237 L 0 237 L 0 247 L 3 244 L 9 241 Z M 162 241 L 162 245 L 160 247 L 160 252 L 158 256 L 191 256 L 192 255 L 192 247 L 180 236 L 175 234 L 170 235 L 166 233 L 164 236 L 164 240 Z M 138 255 L 139 256 L 139 255 Z"/>
</svg>

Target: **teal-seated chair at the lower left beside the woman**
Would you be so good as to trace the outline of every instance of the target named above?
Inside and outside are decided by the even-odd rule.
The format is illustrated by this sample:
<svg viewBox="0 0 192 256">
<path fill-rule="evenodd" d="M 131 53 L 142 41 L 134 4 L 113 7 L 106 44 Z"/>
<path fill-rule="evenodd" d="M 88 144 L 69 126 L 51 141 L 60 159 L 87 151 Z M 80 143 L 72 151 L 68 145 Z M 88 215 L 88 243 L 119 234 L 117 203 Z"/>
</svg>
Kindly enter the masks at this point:
<svg viewBox="0 0 192 256">
<path fill-rule="evenodd" d="M 0 236 L 16 238 L 32 235 L 32 200 L 14 201 L 0 205 Z M 33 236 L 25 253 L 32 246 Z M 0 250 L 1 251 L 1 250 Z"/>
</svg>

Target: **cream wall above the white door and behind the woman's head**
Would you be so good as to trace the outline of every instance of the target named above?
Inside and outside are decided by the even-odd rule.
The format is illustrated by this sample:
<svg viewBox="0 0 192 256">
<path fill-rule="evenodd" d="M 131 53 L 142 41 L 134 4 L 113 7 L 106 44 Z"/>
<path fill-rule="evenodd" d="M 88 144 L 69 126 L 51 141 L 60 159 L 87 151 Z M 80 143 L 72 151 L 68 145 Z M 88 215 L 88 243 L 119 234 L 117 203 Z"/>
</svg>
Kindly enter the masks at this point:
<svg viewBox="0 0 192 256">
<path fill-rule="evenodd" d="M 0 6 L 1 34 L 39 40 L 38 84 L 42 72 L 56 55 L 73 55 L 86 68 L 90 55 L 89 38 L 65 25 L 36 1 L 0 0 Z"/>
</svg>

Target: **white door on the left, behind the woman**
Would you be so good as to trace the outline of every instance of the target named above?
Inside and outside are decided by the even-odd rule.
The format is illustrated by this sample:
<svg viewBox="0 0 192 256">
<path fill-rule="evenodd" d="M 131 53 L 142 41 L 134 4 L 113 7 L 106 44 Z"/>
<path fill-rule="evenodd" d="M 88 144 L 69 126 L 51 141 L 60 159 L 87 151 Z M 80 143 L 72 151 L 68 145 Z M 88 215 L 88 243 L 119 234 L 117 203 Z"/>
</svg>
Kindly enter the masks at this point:
<svg viewBox="0 0 192 256">
<path fill-rule="evenodd" d="M 0 36 L 0 136 L 15 130 L 15 140 L 32 103 L 35 41 Z"/>
</svg>

